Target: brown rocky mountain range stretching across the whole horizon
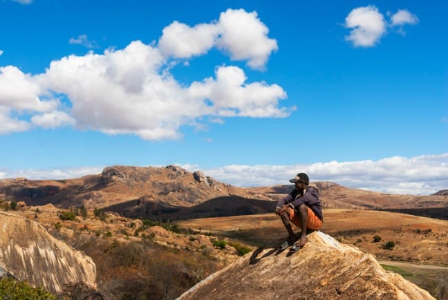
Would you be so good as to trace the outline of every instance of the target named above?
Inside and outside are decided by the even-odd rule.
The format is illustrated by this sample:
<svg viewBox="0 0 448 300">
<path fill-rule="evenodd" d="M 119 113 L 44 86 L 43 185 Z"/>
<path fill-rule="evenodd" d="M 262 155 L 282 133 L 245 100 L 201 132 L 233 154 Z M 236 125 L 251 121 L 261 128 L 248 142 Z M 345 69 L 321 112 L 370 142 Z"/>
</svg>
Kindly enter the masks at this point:
<svg viewBox="0 0 448 300">
<path fill-rule="evenodd" d="M 312 182 L 324 208 L 386 209 L 443 216 L 448 196 L 382 194 L 352 189 L 335 182 Z M 26 205 L 51 203 L 59 208 L 87 207 L 131 218 L 185 219 L 272 212 L 292 185 L 234 187 L 205 176 L 167 167 L 106 167 L 101 174 L 68 180 L 0 180 L 0 197 Z M 2 195 L 3 194 L 3 195 Z M 432 216 L 432 215 L 431 215 Z"/>
</svg>

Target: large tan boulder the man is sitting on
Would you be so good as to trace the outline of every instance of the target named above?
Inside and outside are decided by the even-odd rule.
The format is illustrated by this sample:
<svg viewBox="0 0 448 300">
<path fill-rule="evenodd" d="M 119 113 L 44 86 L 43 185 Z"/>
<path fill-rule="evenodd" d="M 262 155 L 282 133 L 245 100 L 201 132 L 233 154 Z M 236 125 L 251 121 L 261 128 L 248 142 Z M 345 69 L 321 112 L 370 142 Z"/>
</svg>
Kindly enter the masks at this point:
<svg viewBox="0 0 448 300">
<path fill-rule="evenodd" d="M 433 299 L 372 254 L 321 232 L 295 254 L 259 248 L 185 292 L 188 299 Z"/>
</svg>

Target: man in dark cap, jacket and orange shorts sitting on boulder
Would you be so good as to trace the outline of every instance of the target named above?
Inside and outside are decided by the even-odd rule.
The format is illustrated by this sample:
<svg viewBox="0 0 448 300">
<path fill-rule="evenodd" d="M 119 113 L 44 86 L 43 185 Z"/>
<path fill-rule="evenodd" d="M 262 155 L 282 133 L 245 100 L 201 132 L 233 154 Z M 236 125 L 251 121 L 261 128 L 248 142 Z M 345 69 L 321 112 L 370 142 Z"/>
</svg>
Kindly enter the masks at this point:
<svg viewBox="0 0 448 300">
<path fill-rule="evenodd" d="M 285 250 L 290 247 L 290 252 L 296 252 L 304 247 L 308 238 L 306 237 L 307 229 L 317 230 L 322 227 L 324 216 L 322 215 L 321 203 L 319 200 L 319 191 L 317 187 L 310 185 L 310 179 L 305 173 L 299 173 L 290 182 L 295 184 L 288 196 L 283 197 L 275 207 L 275 214 L 281 216 L 281 221 L 288 230 L 288 239 L 283 243 L 279 250 Z M 292 230 L 291 223 L 301 228 L 299 241 Z"/>
</svg>

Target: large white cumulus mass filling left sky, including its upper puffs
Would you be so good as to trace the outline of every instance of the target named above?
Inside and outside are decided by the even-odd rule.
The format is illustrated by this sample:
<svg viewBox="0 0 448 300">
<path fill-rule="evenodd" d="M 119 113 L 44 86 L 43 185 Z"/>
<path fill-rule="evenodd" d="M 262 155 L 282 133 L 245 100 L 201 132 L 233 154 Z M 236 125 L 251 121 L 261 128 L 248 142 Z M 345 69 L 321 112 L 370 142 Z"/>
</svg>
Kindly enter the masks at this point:
<svg viewBox="0 0 448 300">
<path fill-rule="evenodd" d="M 235 24 L 242 24 L 244 32 Z M 0 133 L 71 125 L 144 140 L 177 140 L 182 126 L 207 128 L 208 122 L 225 118 L 286 118 L 295 107 L 279 106 L 287 97 L 283 88 L 263 80 L 249 82 L 239 66 L 221 64 L 213 77 L 189 85 L 171 73 L 173 65 L 187 71 L 189 65 L 178 62 L 206 55 L 213 47 L 246 61 L 249 68 L 263 69 L 277 50 L 268 32 L 256 12 L 229 9 L 208 24 L 190 27 L 174 21 L 162 30 L 158 43 L 132 41 L 102 54 L 56 59 L 45 73 L 0 67 L 0 107 L 6 108 L 0 119 L 10 124 Z M 95 46 L 86 35 L 70 43 Z M 61 95 L 70 110 L 55 100 Z M 23 117 L 24 111 L 30 118 Z"/>
</svg>

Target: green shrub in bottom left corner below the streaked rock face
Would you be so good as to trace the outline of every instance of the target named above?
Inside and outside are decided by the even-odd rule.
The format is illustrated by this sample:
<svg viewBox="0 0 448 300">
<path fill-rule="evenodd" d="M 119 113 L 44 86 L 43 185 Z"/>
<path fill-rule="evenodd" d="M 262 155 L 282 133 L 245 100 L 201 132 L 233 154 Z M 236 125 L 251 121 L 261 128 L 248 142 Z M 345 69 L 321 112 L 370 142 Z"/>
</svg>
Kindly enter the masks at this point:
<svg viewBox="0 0 448 300">
<path fill-rule="evenodd" d="M 3 278 L 0 279 L 0 299 L 50 300 L 56 297 L 44 288 L 32 288 L 24 281 Z"/>
</svg>

